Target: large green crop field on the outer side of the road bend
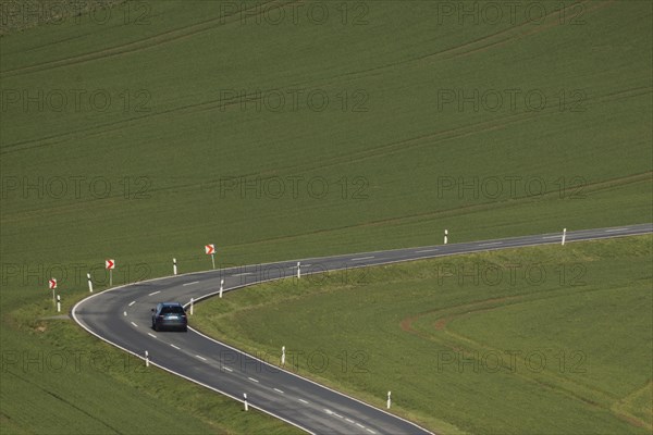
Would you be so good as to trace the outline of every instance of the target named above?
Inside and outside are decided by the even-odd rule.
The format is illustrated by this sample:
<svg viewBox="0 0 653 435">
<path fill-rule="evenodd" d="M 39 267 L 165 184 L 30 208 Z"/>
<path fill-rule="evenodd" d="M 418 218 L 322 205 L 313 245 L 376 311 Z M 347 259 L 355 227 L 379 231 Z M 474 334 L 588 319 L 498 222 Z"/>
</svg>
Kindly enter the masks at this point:
<svg viewBox="0 0 653 435">
<path fill-rule="evenodd" d="M 123 284 L 209 243 L 224 266 L 653 221 L 649 1 L 82 3 L 0 1 L 2 433 L 293 431 L 49 319 L 48 279 L 69 310 L 107 258 Z M 427 422 L 472 431 L 475 403 Z"/>
</svg>

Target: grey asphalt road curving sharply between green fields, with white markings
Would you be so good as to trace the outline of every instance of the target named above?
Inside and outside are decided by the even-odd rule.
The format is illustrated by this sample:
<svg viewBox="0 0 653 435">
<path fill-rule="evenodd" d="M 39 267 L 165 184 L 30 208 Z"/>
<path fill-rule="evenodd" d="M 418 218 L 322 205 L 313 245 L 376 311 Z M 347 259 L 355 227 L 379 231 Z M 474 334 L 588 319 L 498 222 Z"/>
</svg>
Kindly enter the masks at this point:
<svg viewBox="0 0 653 435">
<path fill-rule="evenodd" d="M 653 224 L 567 232 L 566 243 L 653 233 Z M 301 273 L 320 273 L 458 253 L 559 244 L 543 234 L 301 260 Z M 187 334 L 151 330 L 150 309 L 160 301 L 188 302 L 262 281 L 294 276 L 297 260 L 151 279 L 95 294 L 72 310 L 75 321 L 100 339 L 163 370 L 248 403 L 315 434 L 429 434 L 396 415 L 279 369 L 190 328 Z M 274 361 L 275 363 L 278 361 Z M 287 361 L 286 361 L 287 362 Z M 381 393 L 382 394 L 382 393 Z"/>
</svg>

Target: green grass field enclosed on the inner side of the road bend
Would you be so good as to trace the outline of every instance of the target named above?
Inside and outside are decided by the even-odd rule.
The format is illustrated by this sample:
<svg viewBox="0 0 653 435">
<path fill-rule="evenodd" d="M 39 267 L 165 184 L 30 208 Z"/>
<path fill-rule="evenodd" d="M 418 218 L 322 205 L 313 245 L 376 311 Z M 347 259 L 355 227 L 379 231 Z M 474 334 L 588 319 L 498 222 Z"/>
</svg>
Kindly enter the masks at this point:
<svg viewBox="0 0 653 435">
<path fill-rule="evenodd" d="M 285 346 L 288 370 L 379 407 L 392 390 L 395 412 L 438 432 L 645 434 L 652 241 L 288 278 L 201 303 L 192 323 L 276 364 Z"/>
</svg>

